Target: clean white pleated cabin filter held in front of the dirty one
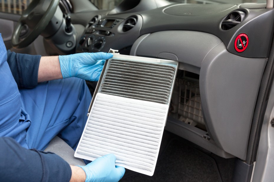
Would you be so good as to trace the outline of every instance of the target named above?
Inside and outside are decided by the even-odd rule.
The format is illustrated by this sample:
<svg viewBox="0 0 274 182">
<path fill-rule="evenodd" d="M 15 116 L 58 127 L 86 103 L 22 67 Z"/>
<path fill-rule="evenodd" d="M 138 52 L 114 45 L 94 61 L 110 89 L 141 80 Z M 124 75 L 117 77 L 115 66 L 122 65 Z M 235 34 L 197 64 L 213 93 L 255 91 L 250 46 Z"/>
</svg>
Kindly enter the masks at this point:
<svg viewBox="0 0 274 182">
<path fill-rule="evenodd" d="M 98 93 L 75 157 L 116 156 L 117 166 L 152 176 L 169 105 Z"/>
</svg>

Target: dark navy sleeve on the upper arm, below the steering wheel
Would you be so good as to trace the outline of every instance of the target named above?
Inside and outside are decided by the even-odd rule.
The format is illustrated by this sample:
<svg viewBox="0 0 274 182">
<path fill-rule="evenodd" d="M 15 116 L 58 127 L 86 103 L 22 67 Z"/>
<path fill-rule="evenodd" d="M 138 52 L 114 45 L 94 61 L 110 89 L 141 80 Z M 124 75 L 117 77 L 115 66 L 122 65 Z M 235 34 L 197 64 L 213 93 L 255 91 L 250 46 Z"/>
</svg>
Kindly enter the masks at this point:
<svg viewBox="0 0 274 182">
<path fill-rule="evenodd" d="M 7 51 L 7 62 L 18 88 L 32 88 L 38 83 L 41 55 L 19 54 Z"/>
</svg>

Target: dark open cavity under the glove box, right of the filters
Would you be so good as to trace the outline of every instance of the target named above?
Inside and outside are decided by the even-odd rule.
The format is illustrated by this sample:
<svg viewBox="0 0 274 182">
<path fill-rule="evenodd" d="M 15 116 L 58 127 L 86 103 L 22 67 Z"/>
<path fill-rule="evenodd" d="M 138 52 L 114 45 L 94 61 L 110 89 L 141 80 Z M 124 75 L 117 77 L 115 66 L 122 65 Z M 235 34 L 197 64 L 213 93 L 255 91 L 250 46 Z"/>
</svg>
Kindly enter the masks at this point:
<svg viewBox="0 0 274 182">
<path fill-rule="evenodd" d="M 202 115 L 199 75 L 178 70 L 165 129 L 223 158 L 235 157 L 210 138 Z"/>
</svg>

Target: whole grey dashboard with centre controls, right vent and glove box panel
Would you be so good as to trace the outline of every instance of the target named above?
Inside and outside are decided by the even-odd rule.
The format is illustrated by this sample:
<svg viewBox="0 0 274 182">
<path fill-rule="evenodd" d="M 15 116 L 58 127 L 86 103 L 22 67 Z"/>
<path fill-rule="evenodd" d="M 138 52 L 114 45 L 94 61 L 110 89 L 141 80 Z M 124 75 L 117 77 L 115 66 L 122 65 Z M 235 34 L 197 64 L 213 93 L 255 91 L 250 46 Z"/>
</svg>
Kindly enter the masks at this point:
<svg viewBox="0 0 274 182">
<path fill-rule="evenodd" d="M 256 3 L 134 2 L 72 15 L 88 22 L 76 52 L 112 48 L 125 55 L 178 61 L 180 70 L 199 77 L 206 134 L 174 119 L 166 129 L 219 156 L 245 160 L 273 40 L 274 9 Z"/>
</svg>

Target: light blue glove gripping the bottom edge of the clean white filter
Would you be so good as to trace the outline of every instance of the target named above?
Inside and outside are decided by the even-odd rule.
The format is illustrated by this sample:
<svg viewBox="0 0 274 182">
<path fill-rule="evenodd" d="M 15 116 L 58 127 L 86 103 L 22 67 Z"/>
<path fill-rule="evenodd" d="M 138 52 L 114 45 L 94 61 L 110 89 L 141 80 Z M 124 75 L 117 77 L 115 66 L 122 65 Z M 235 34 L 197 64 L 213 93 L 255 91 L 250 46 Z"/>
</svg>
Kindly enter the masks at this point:
<svg viewBox="0 0 274 182">
<path fill-rule="evenodd" d="M 116 157 L 108 154 L 99 157 L 86 166 L 79 166 L 86 173 L 86 182 L 115 182 L 119 181 L 125 174 L 125 168 L 115 166 Z"/>
</svg>

